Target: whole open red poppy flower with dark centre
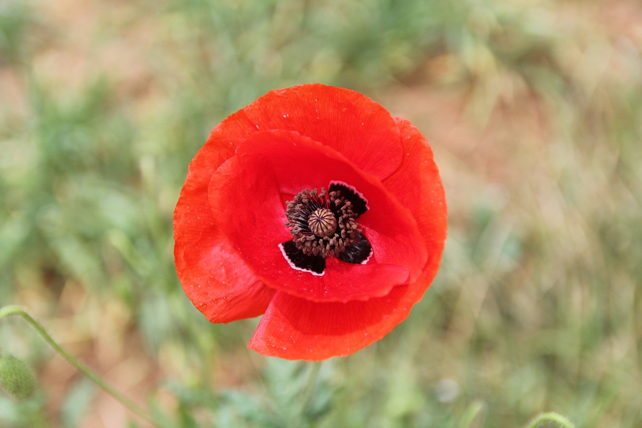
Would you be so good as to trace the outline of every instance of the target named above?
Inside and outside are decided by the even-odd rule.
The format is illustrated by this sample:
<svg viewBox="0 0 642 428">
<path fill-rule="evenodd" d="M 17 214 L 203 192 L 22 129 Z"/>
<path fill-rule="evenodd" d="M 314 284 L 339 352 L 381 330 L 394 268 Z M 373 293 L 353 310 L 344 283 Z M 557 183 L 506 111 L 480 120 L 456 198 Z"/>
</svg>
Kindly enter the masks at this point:
<svg viewBox="0 0 642 428">
<path fill-rule="evenodd" d="M 213 323 L 263 314 L 249 348 L 354 353 L 437 274 L 446 197 L 413 125 L 348 89 L 271 91 L 214 127 L 174 213 L 178 278 Z"/>
</svg>

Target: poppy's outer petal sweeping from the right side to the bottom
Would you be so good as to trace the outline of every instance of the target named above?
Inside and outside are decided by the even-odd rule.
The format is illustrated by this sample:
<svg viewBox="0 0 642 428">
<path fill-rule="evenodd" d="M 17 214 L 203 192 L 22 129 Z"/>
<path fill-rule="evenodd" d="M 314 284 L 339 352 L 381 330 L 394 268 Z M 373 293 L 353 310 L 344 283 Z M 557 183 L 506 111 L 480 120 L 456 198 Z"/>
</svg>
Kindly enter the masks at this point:
<svg viewBox="0 0 642 428">
<path fill-rule="evenodd" d="M 428 245 L 429 259 L 421 277 L 365 302 L 313 303 L 277 292 L 249 348 L 263 355 L 313 361 L 350 355 L 406 319 L 428 289 L 446 241 L 446 197 L 426 139 L 406 120 L 397 119 L 397 125 L 408 155 L 385 184 L 413 211 Z M 417 184 L 417 192 L 409 192 L 408 183 Z"/>
</svg>

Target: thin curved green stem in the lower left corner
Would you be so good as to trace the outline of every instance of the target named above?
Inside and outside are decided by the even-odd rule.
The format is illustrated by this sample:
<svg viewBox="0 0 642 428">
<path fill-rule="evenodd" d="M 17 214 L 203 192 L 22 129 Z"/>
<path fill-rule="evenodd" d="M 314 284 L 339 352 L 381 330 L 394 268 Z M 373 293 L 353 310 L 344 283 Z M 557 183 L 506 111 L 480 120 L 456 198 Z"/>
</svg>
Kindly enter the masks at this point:
<svg viewBox="0 0 642 428">
<path fill-rule="evenodd" d="M 55 340 L 51 337 L 51 335 L 48 334 L 48 332 L 44 329 L 42 325 L 35 319 L 33 319 L 30 314 L 24 310 L 24 308 L 19 307 L 17 305 L 8 305 L 5 307 L 0 308 L 0 319 L 3 319 L 4 317 L 7 316 L 12 316 L 12 315 L 17 315 L 21 316 L 27 323 L 29 323 L 39 334 L 42 336 L 44 341 L 46 341 L 48 344 L 51 345 L 51 347 L 58 352 L 62 357 L 69 361 L 69 364 L 74 366 L 76 369 L 78 369 L 83 375 L 85 375 L 87 378 L 92 380 L 96 385 L 98 385 L 100 388 L 103 389 L 106 393 L 111 395 L 112 397 L 116 398 L 123 406 L 127 407 L 130 409 L 132 412 L 134 412 L 136 415 L 141 416 L 141 418 L 148 420 L 149 422 L 152 422 L 152 424 L 155 424 L 154 420 L 152 419 L 151 416 L 147 414 L 146 411 L 144 411 L 141 407 L 137 406 L 132 400 L 129 398 L 125 397 L 125 395 L 119 393 L 116 391 L 116 389 L 112 388 L 109 386 L 107 383 L 105 383 L 105 380 L 101 379 L 96 373 L 91 371 L 85 364 L 82 364 L 82 362 L 78 361 L 71 355 L 69 352 L 65 351 L 62 346 L 60 346 L 58 343 L 56 343 Z"/>
</svg>

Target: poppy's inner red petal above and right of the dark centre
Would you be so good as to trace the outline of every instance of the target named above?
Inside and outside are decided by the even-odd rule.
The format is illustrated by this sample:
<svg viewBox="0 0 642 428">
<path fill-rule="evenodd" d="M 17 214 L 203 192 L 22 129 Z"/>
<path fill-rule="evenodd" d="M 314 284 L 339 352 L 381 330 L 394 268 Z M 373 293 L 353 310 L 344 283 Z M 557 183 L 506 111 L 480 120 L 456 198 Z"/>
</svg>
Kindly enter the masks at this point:
<svg viewBox="0 0 642 428">
<path fill-rule="evenodd" d="M 407 267 L 410 281 L 419 278 L 427 256 L 415 219 L 376 177 L 358 170 L 332 148 L 297 132 L 257 132 L 239 145 L 236 153 L 252 153 L 269 160 L 282 193 L 296 194 L 330 181 L 354 186 L 370 206 L 358 223 L 372 245 L 376 262 Z"/>
</svg>

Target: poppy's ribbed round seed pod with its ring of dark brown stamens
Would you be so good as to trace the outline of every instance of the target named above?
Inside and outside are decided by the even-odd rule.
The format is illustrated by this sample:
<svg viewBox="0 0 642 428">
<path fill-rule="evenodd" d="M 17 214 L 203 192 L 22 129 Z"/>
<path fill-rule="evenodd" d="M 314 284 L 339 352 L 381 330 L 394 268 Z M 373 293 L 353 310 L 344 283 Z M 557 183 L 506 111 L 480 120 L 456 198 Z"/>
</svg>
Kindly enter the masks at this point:
<svg viewBox="0 0 642 428">
<path fill-rule="evenodd" d="M 341 191 L 302 190 L 287 202 L 286 226 L 298 249 L 308 256 L 338 256 L 359 240 L 361 229 L 352 202 Z"/>
</svg>

